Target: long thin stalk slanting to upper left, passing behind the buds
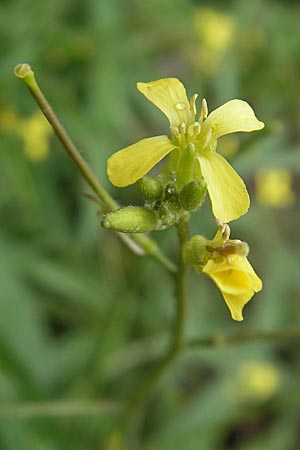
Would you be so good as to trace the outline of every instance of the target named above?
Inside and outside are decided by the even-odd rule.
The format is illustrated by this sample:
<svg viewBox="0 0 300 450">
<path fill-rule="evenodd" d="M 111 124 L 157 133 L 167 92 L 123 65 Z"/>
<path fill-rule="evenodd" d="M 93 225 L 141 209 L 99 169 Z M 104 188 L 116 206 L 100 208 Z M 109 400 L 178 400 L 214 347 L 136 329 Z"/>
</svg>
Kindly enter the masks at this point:
<svg viewBox="0 0 300 450">
<path fill-rule="evenodd" d="M 103 204 L 104 209 L 106 211 L 113 211 L 119 208 L 118 203 L 110 196 L 110 194 L 106 191 L 106 189 L 101 185 L 96 175 L 91 170 L 90 166 L 87 164 L 85 159 L 81 156 L 79 150 L 76 145 L 68 135 L 65 128 L 60 123 L 57 118 L 55 112 L 51 108 L 48 100 L 46 99 L 43 92 L 40 90 L 37 81 L 34 76 L 34 72 L 29 66 L 29 64 L 18 64 L 15 67 L 15 75 L 23 81 L 23 83 L 28 88 L 32 97 L 36 101 L 37 105 L 45 115 L 46 119 L 54 129 L 58 139 L 66 149 L 69 156 L 72 158 L 81 174 L 93 189 L 97 197 L 100 199 L 101 204 Z M 162 267 L 164 267 L 170 274 L 174 275 L 176 273 L 176 267 L 160 250 L 157 244 L 150 238 L 145 235 L 132 234 L 130 238 L 138 244 L 143 251 L 152 256 Z M 133 247 L 130 245 L 128 241 L 128 236 L 124 241 L 129 244 L 129 247 Z"/>
</svg>

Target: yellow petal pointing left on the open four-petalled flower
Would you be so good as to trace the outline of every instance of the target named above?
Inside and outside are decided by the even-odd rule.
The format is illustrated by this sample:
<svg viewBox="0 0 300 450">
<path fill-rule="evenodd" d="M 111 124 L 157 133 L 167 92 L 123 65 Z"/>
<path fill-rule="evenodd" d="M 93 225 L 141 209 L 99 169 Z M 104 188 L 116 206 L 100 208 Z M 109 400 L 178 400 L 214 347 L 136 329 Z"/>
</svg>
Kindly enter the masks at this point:
<svg viewBox="0 0 300 450">
<path fill-rule="evenodd" d="M 114 153 L 107 161 L 107 174 L 115 186 L 139 180 L 175 148 L 167 136 L 142 139 Z"/>
</svg>

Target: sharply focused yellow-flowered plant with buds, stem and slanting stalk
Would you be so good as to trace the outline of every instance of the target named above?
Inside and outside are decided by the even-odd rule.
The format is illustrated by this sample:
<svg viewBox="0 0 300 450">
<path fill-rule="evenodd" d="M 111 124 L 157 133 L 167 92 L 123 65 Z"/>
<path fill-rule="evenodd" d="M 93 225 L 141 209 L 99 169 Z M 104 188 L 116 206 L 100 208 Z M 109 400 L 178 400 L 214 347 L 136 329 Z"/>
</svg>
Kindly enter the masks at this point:
<svg viewBox="0 0 300 450">
<path fill-rule="evenodd" d="M 155 361 L 149 377 L 129 399 L 127 408 L 120 413 L 120 426 L 125 424 L 128 430 L 132 430 L 137 422 L 134 413 L 145 407 L 156 380 L 187 347 L 184 339 L 187 268 L 193 267 L 213 280 L 234 320 L 243 319 L 244 305 L 262 289 L 262 282 L 247 259 L 248 244 L 230 239 L 228 222 L 246 214 L 250 201 L 243 180 L 217 153 L 217 143 L 226 134 L 260 130 L 264 124 L 242 100 L 231 100 L 210 114 L 206 101 L 202 100 L 197 116 L 197 95 L 188 100 L 183 84 L 176 78 L 138 83 L 139 91 L 169 119 L 170 136 L 142 139 L 108 159 L 110 181 L 118 187 L 136 182 L 143 201 L 139 206 L 120 207 L 61 125 L 41 92 L 31 67 L 20 64 L 15 68 L 15 74 L 25 83 L 96 194 L 96 198 L 90 194 L 87 197 L 96 200 L 100 206 L 103 227 L 118 232 L 137 254 L 154 258 L 176 284 L 176 313 L 170 344 L 162 357 Z M 165 165 L 158 168 L 156 175 L 149 175 L 148 172 L 165 157 Z M 211 240 L 202 235 L 191 237 L 188 230 L 191 213 L 199 210 L 207 193 L 218 227 Z M 171 226 L 176 227 L 180 247 L 177 265 L 144 234 Z M 193 346 L 193 342 L 189 345 Z M 128 424 L 131 419 L 132 423 Z"/>
</svg>

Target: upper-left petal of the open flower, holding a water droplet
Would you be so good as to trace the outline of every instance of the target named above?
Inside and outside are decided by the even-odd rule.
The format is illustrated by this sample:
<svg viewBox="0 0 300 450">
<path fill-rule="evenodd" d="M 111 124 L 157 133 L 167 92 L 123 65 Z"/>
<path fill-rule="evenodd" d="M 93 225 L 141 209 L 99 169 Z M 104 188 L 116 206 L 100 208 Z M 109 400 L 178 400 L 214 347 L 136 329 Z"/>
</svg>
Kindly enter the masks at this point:
<svg viewBox="0 0 300 450">
<path fill-rule="evenodd" d="M 185 87 L 177 78 L 162 78 L 150 83 L 137 83 L 138 90 L 159 108 L 170 125 L 189 124 L 191 112 Z"/>
</svg>

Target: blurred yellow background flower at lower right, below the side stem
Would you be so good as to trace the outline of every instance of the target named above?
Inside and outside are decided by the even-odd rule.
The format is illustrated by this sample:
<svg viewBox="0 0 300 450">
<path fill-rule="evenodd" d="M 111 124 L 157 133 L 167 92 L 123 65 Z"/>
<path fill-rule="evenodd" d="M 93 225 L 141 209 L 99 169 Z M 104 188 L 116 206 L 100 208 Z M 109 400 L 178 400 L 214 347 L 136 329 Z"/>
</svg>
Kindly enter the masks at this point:
<svg viewBox="0 0 300 450">
<path fill-rule="evenodd" d="M 242 399 L 268 400 L 279 390 L 281 378 L 272 363 L 246 361 L 238 370 L 235 390 Z"/>
</svg>

